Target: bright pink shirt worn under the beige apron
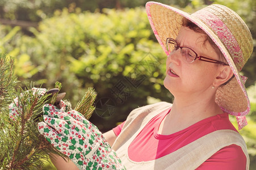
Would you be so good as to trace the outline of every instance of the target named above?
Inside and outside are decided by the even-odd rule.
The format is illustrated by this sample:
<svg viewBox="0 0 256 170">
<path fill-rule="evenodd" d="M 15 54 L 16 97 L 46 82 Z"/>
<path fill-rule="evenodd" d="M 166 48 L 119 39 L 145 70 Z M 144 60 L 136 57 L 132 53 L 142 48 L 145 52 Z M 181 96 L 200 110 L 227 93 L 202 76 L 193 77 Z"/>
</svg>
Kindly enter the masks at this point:
<svg viewBox="0 0 256 170">
<path fill-rule="evenodd" d="M 161 158 L 188 143 L 203 137 L 215 130 L 231 129 L 237 131 L 231 124 L 228 114 L 218 114 L 206 118 L 196 124 L 170 135 L 158 134 L 158 128 L 170 109 L 158 114 L 145 126 L 128 147 L 128 156 L 135 162 L 149 161 Z M 124 122 L 114 128 L 114 133 L 119 135 Z M 206 160 L 198 169 L 245 169 L 246 156 L 242 148 L 230 145 L 222 148 Z"/>
</svg>

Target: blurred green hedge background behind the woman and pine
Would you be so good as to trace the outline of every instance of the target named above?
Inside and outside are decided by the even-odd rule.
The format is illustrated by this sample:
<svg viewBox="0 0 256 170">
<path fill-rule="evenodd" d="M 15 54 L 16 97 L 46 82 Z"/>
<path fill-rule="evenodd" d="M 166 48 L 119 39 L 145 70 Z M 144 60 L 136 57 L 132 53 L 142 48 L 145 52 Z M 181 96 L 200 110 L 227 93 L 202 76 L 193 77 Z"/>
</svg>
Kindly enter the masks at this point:
<svg viewBox="0 0 256 170">
<path fill-rule="evenodd" d="M 15 57 L 19 86 L 31 81 L 53 88 L 62 83 L 73 106 L 88 87 L 97 94 L 90 121 L 101 131 L 114 128 L 132 109 L 171 102 L 163 87 L 165 59 L 151 31 L 144 0 L 1 0 L 0 53 Z M 232 8 L 245 20 L 256 45 L 256 1 L 158 1 L 194 12 L 212 3 Z M 251 100 L 249 125 L 240 130 L 256 169 L 256 52 L 242 74 Z M 234 125 L 236 120 L 230 117 Z M 46 163 L 45 169 L 53 169 Z"/>
</svg>

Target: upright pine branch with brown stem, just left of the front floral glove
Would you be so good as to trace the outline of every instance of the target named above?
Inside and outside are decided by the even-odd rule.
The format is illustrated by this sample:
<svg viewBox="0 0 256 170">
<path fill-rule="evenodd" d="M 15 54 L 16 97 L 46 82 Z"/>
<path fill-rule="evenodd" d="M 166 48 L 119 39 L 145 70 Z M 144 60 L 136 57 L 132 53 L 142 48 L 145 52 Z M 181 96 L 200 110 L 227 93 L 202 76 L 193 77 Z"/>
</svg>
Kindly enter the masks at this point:
<svg viewBox="0 0 256 170">
<path fill-rule="evenodd" d="M 32 115 L 34 112 L 42 112 L 41 108 L 45 104 L 45 97 L 38 92 L 33 94 L 32 90 L 20 91 L 18 93 L 22 95 L 18 96 L 18 105 L 16 106 L 16 109 L 19 109 L 20 116 L 14 120 L 14 123 L 19 125 L 16 126 L 18 138 L 15 141 L 9 169 L 19 168 L 20 165 L 31 159 L 31 155 L 39 152 L 37 145 L 41 142 L 38 140 L 40 133 L 37 130 L 36 122 L 32 119 Z M 36 133 L 36 136 L 33 133 Z"/>
</svg>

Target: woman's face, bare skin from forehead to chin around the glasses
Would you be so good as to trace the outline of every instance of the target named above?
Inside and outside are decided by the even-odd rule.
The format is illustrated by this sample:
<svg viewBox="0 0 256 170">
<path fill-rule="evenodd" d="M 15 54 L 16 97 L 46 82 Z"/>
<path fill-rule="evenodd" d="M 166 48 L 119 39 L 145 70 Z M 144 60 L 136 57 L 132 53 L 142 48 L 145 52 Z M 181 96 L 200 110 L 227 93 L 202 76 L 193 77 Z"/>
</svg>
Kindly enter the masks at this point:
<svg viewBox="0 0 256 170">
<path fill-rule="evenodd" d="M 219 59 L 212 46 L 204 43 L 205 35 L 182 27 L 176 38 L 179 46 L 193 49 L 199 56 Z M 200 95 L 213 87 L 213 81 L 220 73 L 215 63 L 199 61 L 187 63 L 182 59 L 181 49 L 170 54 L 166 60 L 164 86 L 177 97 L 179 95 Z"/>
</svg>

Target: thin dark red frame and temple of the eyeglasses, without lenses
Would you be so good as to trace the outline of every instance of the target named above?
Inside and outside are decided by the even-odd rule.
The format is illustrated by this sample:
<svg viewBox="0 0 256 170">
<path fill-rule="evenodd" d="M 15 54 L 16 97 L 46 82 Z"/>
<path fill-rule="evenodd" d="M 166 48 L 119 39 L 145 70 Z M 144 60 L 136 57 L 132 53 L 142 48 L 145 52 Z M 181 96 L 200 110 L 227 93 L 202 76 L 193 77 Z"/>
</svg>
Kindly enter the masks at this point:
<svg viewBox="0 0 256 170">
<path fill-rule="evenodd" d="M 170 52 L 170 50 L 169 50 L 169 48 L 168 48 L 168 46 L 169 46 L 168 44 L 170 43 L 169 40 L 173 40 L 173 41 L 176 42 L 176 44 L 177 44 L 177 48 L 174 48 L 174 49 L 175 49 L 174 52 L 176 52 L 179 48 L 181 48 L 181 50 L 182 50 L 182 48 L 188 48 L 188 49 L 192 50 L 191 48 L 189 48 L 189 47 L 187 47 L 187 46 L 179 46 L 179 45 L 178 45 L 178 42 L 175 41 L 175 40 L 172 39 L 172 38 L 167 38 L 167 39 L 166 39 L 166 42 L 165 42 L 165 45 L 166 45 L 167 52 L 169 52 L 169 54 L 170 54 L 170 53 L 174 53 L 174 52 Z M 198 53 L 196 53 L 194 50 L 192 50 L 192 52 L 194 52 L 194 53 L 196 54 L 196 56 L 195 56 L 195 58 L 194 58 L 194 60 L 193 60 L 192 62 L 194 62 L 194 61 L 196 60 L 196 58 L 198 58 L 199 61 L 217 63 L 217 64 L 221 64 L 221 65 L 228 65 L 227 63 L 222 62 L 222 61 L 218 61 L 218 60 L 216 60 L 216 59 L 212 59 L 212 58 L 208 58 L 208 57 L 204 57 L 204 56 L 199 56 Z M 208 61 L 208 60 L 205 60 L 205 59 L 202 59 L 202 58 L 206 58 L 206 59 L 209 59 L 209 60 L 211 60 L 211 61 Z M 192 62 L 188 62 L 188 63 L 192 63 Z"/>
</svg>

